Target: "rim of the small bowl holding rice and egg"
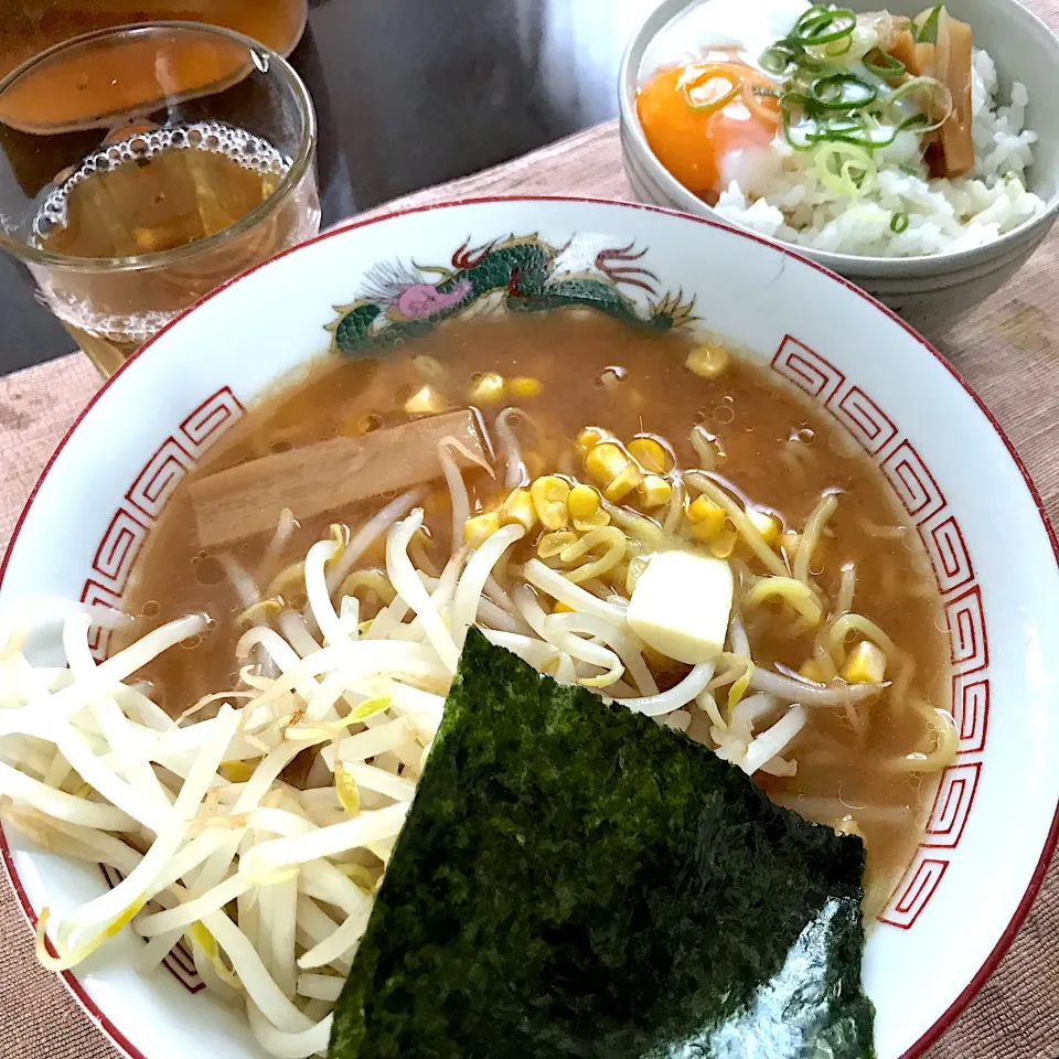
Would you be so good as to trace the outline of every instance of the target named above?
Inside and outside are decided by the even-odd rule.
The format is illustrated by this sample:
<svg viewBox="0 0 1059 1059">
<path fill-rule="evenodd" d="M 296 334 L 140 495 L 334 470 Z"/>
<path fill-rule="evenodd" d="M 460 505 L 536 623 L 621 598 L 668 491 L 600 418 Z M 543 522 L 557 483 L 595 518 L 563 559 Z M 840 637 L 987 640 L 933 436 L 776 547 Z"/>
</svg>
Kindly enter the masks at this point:
<svg viewBox="0 0 1059 1059">
<path fill-rule="evenodd" d="M 650 172 L 648 175 L 653 179 L 655 184 L 662 185 L 664 193 L 670 200 L 670 203 L 666 204 L 664 208 L 677 210 L 683 213 L 688 213 L 692 216 L 705 217 L 717 224 L 736 227 L 740 232 L 752 232 L 752 229 L 738 224 L 738 222 L 729 222 L 719 216 L 713 206 L 688 191 L 688 189 L 659 161 L 648 143 L 648 138 L 640 124 L 639 115 L 637 114 L 635 96 L 640 64 L 643 61 L 643 55 L 648 46 L 673 19 L 677 18 L 687 9 L 697 7 L 704 2 L 708 2 L 708 0 L 662 0 L 662 3 L 648 12 L 625 45 L 618 69 L 618 110 L 621 125 L 622 154 L 624 154 L 627 150 L 630 152 L 634 151 L 638 156 L 638 162 L 649 168 Z M 1039 39 L 1046 47 L 1051 49 L 1052 65 L 1059 67 L 1059 36 L 1057 36 L 1040 18 L 1019 3 L 1018 0 L 993 0 L 993 2 L 1004 4 L 1007 17 L 1023 19 L 1027 29 Z M 628 169 L 628 163 L 624 161 L 624 158 L 622 161 Z M 1033 189 L 1027 190 L 1031 191 Z M 901 274 L 911 271 L 919 276 L 929 276 L 939 272 L 959 271 L 962 268 L 974 266 L 983 260 L 990 260 L 1003 252 L 1013 250 L 1016 246 L 1031 244 L 1035 233 L 1040 228 L 1044 229 L 1044 233 L 1047 233 L 1047 229 L 1055 223 L 1057 215 L 1059 215 L 1059 186 L 1057 186 L 1052 195 L 1045 201 L 1045 208 L 1040 213 L 1027 217 L 1012 228 L 1010 232 L 1005 232 L 984 246 L 970 247 L 962 250 L 941 250 L 938 254 L 918 254 L 910 257 L 879 257 L 870 254 L 846 254 L 838 250 L 821 250 L 811 246 L 802 246 L 799 243 L 789 243 L 787 239 L 781 239 L 775 236 L 761 236 L 761 238 L 782 246 L 784 249 L 791 249 L 795 254 L 810 257 L 833 272 L 897 278 L 897 276 Z M 1044 237 L 1044 233 L 1041 234 L 1041 238 Z M 757 232 L 752 234 L 761 235 Z"/>
</svg>

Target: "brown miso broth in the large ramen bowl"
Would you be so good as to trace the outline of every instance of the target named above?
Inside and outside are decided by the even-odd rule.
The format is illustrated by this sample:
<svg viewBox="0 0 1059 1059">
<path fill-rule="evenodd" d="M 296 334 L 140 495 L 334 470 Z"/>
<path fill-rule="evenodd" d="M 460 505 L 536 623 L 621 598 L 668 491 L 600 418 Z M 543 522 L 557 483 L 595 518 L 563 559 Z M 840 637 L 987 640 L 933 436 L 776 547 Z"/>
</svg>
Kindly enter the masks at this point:
<svg viewBox="0 0 1059 1059">
<path fill-rule="evenodd" d="M 252 409 L 207 463 L 182 482 L 156 528 L 126 600 L 139 618 L 137 635 L 189 612 L 205 611 L 212 623 L 182 650 L 158 657 L 143 676 L 174 716 L 203 696 L 237 687 L 239 666 L 247 663 L 236 661 L 236 643 L 247 621 L 255 620 L 247 619 L 247 586 L 240 595 L 239 577 L 249 577 L 253 591 L 263 597 L 272 591 L 284 606 L 303 608 L 304 587 L 293 565 L 313 542 L 328 537 L 333 524 L 355 532 L 393 499 L 376 496 L 311 516 L 293 510 L 298 525 L 278 552 L 271 533 L 207 550 L 200 546 L 189 495 L 196 480 L 270 453 L 385 431 L 416 415 L 470 406 L 481 416 L 495 469 L 495 478 L 477 468 L 464 471 L 474 515 L 501 510 L 511 492 L 495 426 L 504 408 L 525 413 L 510 416 L 507 424 L 530 479 L 565 475 L 591 483 L 585 471 L 586 428 L 609 431 L 621 443 L 652 438 L 672 453 L 677 468 L 694 469 L 702 452 L 691 434 L 700 427 L 699 446 L 709 446 L 715 480 L 748 510 L 771 516 L 773 547 L 783 561 L 790 559 L 784 539 L 795 539 L 788 534 L 803 531 L 822 495 L 831 491 L 836 496 L 820 546 L 811 552 L 810 576 L 821 597 L 833 603 L 851 587 L 848 573 L 844 585 L 844 568 L 855 569 L 852 609 L 885 630 L 896 648 L 884 692 L 852 708 L 807 707 L 807 723 L 784 749 L 787 759 L 796 762 L 794 774 L 755 773 L 783 805 L 863 834 L 868 905 L 877 911 L 914 852 L 934 789 L 937 769 L 929 762 L 941 737 L 924 704 L 949 708 L 940 599 L 917 534 L 869 459 L 833 421 L 761 367 L 716 345 L 704 360 L 702 350 L 702 336 L 651 334 L 593 313 L 560 312 L 453 320 L 375 359 L 332 355 L 318 362 Z M 688 366 L 689 355 L 697 371 Z M 691 488 L 688 493 L 696 495 Z M 452 506 L 441 478 L 428 484 L 422 506 L 427 532 L 417 534 L 410 550 L 418 568 L 437 577 L 453 546 Z M 662 511 L 639 514 L 657 523 Z M 693 527 L 681 526 L 688 547 L 699 547 L 687 536 Z M 535 556 L 543 532 L 538 527 L 514 544 L 498 576 Z M 372 571 L 385 569 L 384 553 L 385 535 L 356 564 L 371 574 L 357 590 L 362 628 L 387 602 L 388 591 L 372 588 Z M 730 561 L 749 582 L 763 576 L 752 553 L 740 545 Z M 624 591 L 623 579 L 598 580 L 606 585 L 590 590 Z M 381 584 L 377 578 L 375 584 Z M 744 607 L 741 617 L 757 667 L 785 677 L 800 670 L 813 675 L 805 666 L 813 657 L 816 629 L 804 628 L 775 600 Z M 688 668 L 650 651 L 645 657 L 662 688 L 676 684 Z M 903 661 L 898 664 L 898 659 Z M 819 673 L 815 680 L 827 683 Z M 732 682 L 716 688 L 723 716 L 731 688 Z M 710 718 L 694 702 L 688 712 L 691 720 L 681 721 L 688 735 L 713 745 Z"/>
</svg>

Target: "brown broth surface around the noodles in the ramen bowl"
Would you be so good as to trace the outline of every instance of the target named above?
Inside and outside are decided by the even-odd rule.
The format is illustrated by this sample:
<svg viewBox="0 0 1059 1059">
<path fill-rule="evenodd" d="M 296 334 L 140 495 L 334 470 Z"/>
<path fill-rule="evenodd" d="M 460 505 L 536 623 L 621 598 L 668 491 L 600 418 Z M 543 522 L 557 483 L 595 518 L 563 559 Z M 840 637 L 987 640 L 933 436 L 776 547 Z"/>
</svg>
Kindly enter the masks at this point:
<svg viewBox="0 0 1059 1059">
<path fill-rule="evenodd" d="M 521 435 L 534 475 L 574 468 L 573 439 L 587 425 L 624 439 L 657 435 L 671 443 L 680 466 L 697 467 L 688 435 L 693 425 L 702 424 L 723 453 L 718 473 L 749 502 L 775 513 L 784 527 L 801 530 L 825 490 L 841 492 L 830 535 L 814 556 L 813 574 L 834 598 L 843 565 L 855 563 L 855 609 L 912 656 L 918 694 L 949 708 L 940 600 L 916 534 L 898 513 L 879 470 L 832 421 L 761 368 L 732 356 L 715 379 L 693 374 L 685 359 L 695 344 L 688 335 L 635 332 L 597 314 L 450 321 L 377 360 L 329 357 L 314 365 L 302 381 L 266 398 L 222 442 L 223 451 L 194 473 L 213 473 L 270 451 L 404 422 L 405 399 L 425 384 L 447 398 L 449 407 L 466 407 L 472 378 L 485 372 L 528 376 L 542 384 L 537 396 L 509 396 L 504 404 L 481 408 L 490 426 L 505 405 L 518 405 L 534 417 L 541 437 L 534 440 L 532 431 Z M 483 473 L 468 475 L 468 482 L 478 503 L 495 498 L 496 486 Z M 303 558 L 314 541 L 327 536 L 330 524 L 355 530 L 381 502 L 304 520 L 277 569 Z M 437 549 L 440 568 L 448 554 L 451 517 L 443 483 L 437 483 L 425 507 L 434 534 L 427 550 Z M 299 512 L 293 514 L 299 517 Z M 256 570 L 267 545 L 268 537 L 258 536 L 229 554 Z M 364 563 L 383 566 L 383 545 Z M 202 642 L 162 655 L 145 674 L 170 713 L 235 686 L 235 644 L 242 631 L 237 616 L 243 606 L 217 556 L 200 550 L 186 481 L 154 531 L 127 607 L 142 617 L 137 632 L 194 611 L 215 619 Z M 758 664 L 796 671 L 811 652 L 812 635 L 792 637 L 790 622 L 780 621 L 770 608 L 746 617 Z M 656 675 L 660 684 L 676 678 Z M 886 762 L 911 750 L 930 751 L 932 735 L 922 715 L 905 704 L 884 698 L 866 708 L 869 721 L 860 737 L 841 709 L 811 709 L 809 725 L 791 748 L 799 762 L 796 774 L 759 772 L 756 779 L 783 804 L 802 807 L 811 819 L 834 822 L 834 814 L 817 806 L 820 800 L 841 802 L 866 839 L 869 885 L 877 894 L 888 894 L 912 856 L 934 783 L 931 775 L 887 768 Z M 691 734 L 702 737 L 700 728 L 693 721 Z"/>
</svg>

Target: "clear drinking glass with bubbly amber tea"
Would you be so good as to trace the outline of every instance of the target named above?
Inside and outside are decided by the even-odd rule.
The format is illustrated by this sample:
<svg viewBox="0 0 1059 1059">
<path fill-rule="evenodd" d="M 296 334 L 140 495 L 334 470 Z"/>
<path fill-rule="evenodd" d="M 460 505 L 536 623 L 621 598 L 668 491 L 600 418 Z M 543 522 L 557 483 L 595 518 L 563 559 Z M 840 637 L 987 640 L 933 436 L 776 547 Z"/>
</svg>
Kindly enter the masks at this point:
<svg viewBox="0 0 1059 1059">
<path fill-rule="evenodd" d="M 317 234 L 301 79 L 232 30 L 88 33 L 0 81 L 0 245 L 104 375 L 235 274 Z"/>
</svg>

